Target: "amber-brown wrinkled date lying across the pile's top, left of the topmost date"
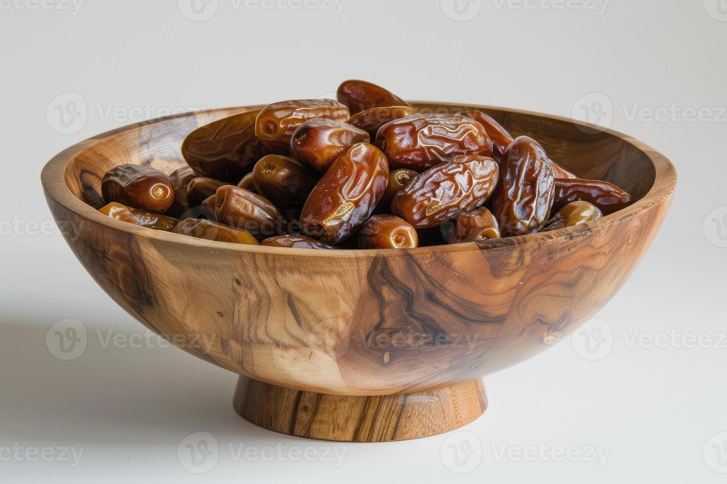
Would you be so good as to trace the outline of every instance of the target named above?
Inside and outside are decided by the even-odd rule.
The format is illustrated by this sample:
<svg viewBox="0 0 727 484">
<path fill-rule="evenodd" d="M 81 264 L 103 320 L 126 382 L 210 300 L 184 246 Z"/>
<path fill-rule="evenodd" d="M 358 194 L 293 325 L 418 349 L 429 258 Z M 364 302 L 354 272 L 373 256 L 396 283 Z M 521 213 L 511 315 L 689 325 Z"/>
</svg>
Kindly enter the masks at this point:
<svg viewBox="0 0 727 484">
<path fill-rule="evenodd" d="M 348 120 L 348 107 L 332 99 L 298 99 L 273 102 L 255 120 L 255 136 L 270 149 L 289 149 L 295 130 L 314 118 Z"/>
</svg>

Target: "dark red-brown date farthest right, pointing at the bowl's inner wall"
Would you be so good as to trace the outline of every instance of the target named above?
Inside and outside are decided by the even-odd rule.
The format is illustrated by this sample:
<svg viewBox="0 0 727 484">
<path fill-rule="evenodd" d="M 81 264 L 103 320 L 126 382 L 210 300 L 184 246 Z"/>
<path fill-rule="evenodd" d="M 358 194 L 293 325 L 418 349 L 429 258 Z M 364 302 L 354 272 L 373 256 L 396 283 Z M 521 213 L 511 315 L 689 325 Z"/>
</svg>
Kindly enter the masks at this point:
<svg viewBox="0 0 727 484">
<path fill-rule="evenodd" d="M 582 200 L 598 207 L 603 215 L 627 208 L 634 200 L 618 186 L 607 181 L 556 179 L 553 210 L 561 210 L 571 202 Z"/>
</svg>

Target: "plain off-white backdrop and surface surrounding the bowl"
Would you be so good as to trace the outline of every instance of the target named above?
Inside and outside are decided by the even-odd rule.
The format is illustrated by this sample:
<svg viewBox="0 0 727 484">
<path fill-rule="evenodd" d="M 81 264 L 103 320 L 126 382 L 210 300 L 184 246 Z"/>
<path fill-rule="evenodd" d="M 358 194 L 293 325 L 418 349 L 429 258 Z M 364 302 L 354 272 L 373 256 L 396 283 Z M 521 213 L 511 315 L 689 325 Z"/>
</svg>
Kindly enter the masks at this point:
<svg viewBox="0 0 727 484">
<path fill-rule="evenodd" d="M 603 0 L 458 0 L 460 14 L 452 0 L 347 0 L 342 11 L 271 1 L 213 0 L 201 12 L 214 15 L 197 21 L 190 0 L 85 0 L 79 10 L 70 0 L 0 0 L 0 480 L 725 482 L 727 13 L 718 7 L 727 12 L 727 1 L 611 0 L 603 10 Z M 47 233 L 39 173 L 61 149 L 143 118 L 321 97 L 347 78 L 405 99 L 567 116 L 585 105 L 669 157 L 679 184 L 654 245 L 600 321 L 487 377 L 491 406 L 463 429 L 473 434 L 334 445 L 345 452 L 336 462 L 324 456 L 330 443 L 238 417 L 234 374 L 177 348 L 103 348 L 97 330 L 124 338 L 143 328 Z M 79 97 L 85 120 L 60 125 L 55 105 Z M 670 112 L 648 117 L 659 109 Z M 62 361 L 46 335 L 69 318 L 88 342 Z M 605 338 L 598 353 L 587 352 L 588 335 Z M 631 344 L 638 335 L 669 340 Z M 699 335 L 709 348 L 684 347 Z M 201 475 L 185 468 L 182 441 L 194 432 L 219 448 Z M 241 443 L 265 459 L 238 458 Z M 469 455 L 465 466 L 450 445 L 460 464 Z M 76 467 L 63 446 L 83 449 Z M 43 447 L 51 462 L 30 460 Z M 312 462 L 287 459 L 306 448 Z M 561 448 L 580 456 L 555 462 Z M 605 462 L 586 456 L 591 448 Z"/>
</svg>

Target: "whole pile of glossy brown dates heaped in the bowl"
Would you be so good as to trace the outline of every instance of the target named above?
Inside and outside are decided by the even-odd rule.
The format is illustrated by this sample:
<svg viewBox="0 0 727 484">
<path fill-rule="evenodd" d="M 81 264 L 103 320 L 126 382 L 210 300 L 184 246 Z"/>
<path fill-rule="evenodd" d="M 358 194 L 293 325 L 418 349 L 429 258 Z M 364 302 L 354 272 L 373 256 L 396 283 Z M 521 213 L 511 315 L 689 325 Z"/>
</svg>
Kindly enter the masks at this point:
<svg viewBox="0 0 727 484">
<path fill-rule="evenodd" d="M 587 223 L 632 203 L 578 179 L 481 111 L 418 112 L 365 81 L 275 102 L 191 132 L 187 166 L 105 174 L 102 213 L 222 242 L 407 248 Z"/>
</svg>

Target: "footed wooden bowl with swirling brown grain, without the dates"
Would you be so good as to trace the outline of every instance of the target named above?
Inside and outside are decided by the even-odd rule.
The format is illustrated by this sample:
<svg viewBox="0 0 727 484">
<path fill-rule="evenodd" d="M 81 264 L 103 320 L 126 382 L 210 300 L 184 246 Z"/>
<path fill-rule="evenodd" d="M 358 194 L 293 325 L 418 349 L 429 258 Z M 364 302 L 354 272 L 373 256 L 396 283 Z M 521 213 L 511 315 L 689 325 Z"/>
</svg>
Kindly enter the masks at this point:
<svg viewBox="0 0 727 484">
<path fill-rule="evenodd" d="M 662 223 L 676 173 L 640 141 L 572 120 L 413 105 L 481 109 L 514 136 L 537 139 L 565 168 L 638 201 L 545 234 L 410 250 L 209 242 L 95 210 L 110 168 L 139 163 L 171 173 L 185 163 L 180 145 L 190 131 L 261 106 L 109 131 L 55 156 L 41 179 L 71 250 L 116 303 L 188 353 L 240 374 L 234 405 L 242 417 L 331 440 L 434 435 L 485 411 L 481 377 L 563 339 L 619 290 Z"/>
</svg>

